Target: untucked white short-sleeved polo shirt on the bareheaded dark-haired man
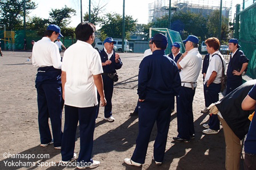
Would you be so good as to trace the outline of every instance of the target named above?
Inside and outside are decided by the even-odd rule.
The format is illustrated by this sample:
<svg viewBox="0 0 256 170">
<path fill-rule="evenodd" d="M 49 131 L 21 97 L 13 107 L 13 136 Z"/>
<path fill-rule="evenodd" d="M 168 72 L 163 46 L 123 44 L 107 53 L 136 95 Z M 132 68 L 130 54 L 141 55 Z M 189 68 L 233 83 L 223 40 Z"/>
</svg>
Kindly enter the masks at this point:
<svg viewBox="0 0 256 170">
<path fill-rule="evenodd" d="M 101 57 L 91 44 L 77 41 L 64 52 L 62 71 L 66 72 L 65 104 L 92 107 L 98 104 L 93 75 L 103 73 Z"/>
</svg>

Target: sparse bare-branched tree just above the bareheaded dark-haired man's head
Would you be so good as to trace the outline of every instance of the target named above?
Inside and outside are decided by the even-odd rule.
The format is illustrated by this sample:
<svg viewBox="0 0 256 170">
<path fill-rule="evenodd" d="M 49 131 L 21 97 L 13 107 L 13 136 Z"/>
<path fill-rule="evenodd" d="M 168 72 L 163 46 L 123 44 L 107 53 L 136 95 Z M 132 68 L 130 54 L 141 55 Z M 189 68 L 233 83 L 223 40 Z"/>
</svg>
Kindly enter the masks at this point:
<svg viewBox="0 0 256 170">
<path fill-rule="evenodd" d="M 99 3 L 100 2 L 101 1 L 99 1 Z M 91 23 L 93 23 L 94 25 L 98 25 L 99 23 L 102 22 L 102 17 L 100 17 L 99 15 L 101 15 L 103 13 L 104 8 L 107 5 L 107 3 L 106 3 L 105 5 L 100 6 L 99 3 L 97 6 L 93 4 L 93 10 L 91 10 Z M 83 21 L 89 21 L 88 12 L 83 17 Z"/>
</svg>

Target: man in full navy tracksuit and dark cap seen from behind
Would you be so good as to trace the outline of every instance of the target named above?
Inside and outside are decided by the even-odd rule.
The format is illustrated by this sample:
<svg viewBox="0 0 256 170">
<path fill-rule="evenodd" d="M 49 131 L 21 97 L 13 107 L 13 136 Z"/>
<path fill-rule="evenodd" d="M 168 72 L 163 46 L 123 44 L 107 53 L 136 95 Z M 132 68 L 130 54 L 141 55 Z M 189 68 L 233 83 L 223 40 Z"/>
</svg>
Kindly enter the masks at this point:
<svg viewBox="0 0 256 170">
<path fill-rule="evenodd" d="M 157 122 L 157 137 L 154 143 L 154 161 L 161 165 L 165 155 L 167 133 L 171 118 L 174 95 L 181 88 L 177 64 L 165 55 L 167 37 L 156 34 L 152 40 L 153 55 L 145 57 L 139 65 L 139 134 L 131 159 L 124 162 L 141 167 L 145 163 L 147 147 L 154 123 Z"/>
</svg>

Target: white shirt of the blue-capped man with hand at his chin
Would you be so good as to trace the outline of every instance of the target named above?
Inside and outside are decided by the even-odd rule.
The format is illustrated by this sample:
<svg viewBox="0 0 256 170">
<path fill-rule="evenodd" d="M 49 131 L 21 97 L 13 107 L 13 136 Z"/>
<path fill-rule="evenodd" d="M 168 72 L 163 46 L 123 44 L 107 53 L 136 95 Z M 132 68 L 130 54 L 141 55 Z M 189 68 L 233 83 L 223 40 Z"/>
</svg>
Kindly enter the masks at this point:
<svg viewBox="0 0 256 170">
<path fill-rule="evenodd" d="M 187 82 L 181 83 L 181 85 L 191 88 L 190 82 L 197 82 L 202 66 L 202 56 L 199 54 L 198 48 L 193 48 L 187 52 L 187 55 L 179 62 L 179 65 L 182 67 L 181 72 L 179 72 L 181 82 Z M 193 86 L 197 87 L 197 83 L 194 83 Z"/>
</svg>

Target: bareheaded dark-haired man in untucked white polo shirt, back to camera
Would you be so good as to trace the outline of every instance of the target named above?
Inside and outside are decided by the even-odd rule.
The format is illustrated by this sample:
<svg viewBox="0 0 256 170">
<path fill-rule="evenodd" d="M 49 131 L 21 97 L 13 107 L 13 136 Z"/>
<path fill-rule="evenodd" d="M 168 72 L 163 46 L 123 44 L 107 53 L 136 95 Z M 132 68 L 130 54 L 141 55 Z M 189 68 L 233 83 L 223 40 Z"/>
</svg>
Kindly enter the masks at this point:
<svg viewBox="0 0 256 170">
<path fill-rule="evenodd" d="M 91 159 L 93 133 L 97 112 L 97 90 L 101 106 L 106 106 L 103 93 L 101 58 L 91 44 L 94 42 L 95 26 L 80 23 L 75 29 L 77 42 L 64 53 L 62 64 L 62 88 L 65 99 L 65 127 L 62 138 L 62 162 L 69 163 L 76 157 L 75 134 L 79 121 L 80 153 L 77 168 L 95 168 L 99 161 Z"/>
</svg>

